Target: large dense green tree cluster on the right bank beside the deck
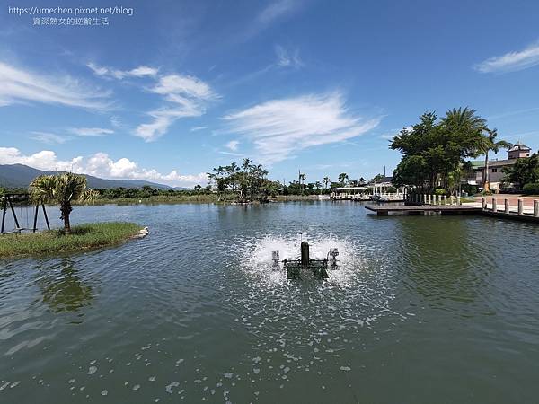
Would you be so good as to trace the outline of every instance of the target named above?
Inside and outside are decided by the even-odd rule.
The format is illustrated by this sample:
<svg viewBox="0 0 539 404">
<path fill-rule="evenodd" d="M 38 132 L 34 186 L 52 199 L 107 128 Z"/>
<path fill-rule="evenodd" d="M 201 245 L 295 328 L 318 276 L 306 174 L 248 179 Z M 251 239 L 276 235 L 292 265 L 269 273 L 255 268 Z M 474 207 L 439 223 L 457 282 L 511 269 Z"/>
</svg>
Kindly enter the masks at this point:
<svg viewBox="0 0 539 404">
<path fill-rule="evenodd" d="M 487 127 L 475 112 L 448 110 L 441 119 L 426 112 L 419 123 L 394 136 L 389 147 L 400 151 L 402 160 L 393 171 L 393 185 L 412 185 L 428 193 L 443 189 L 455 195 L 471 169 L 467 159 L 484 155 L 488 169 L 489 152 L 511 145 L 497 140 L 496 129 Z M 483 188 L 489 189 L 488 178 Z"/>
</svg>

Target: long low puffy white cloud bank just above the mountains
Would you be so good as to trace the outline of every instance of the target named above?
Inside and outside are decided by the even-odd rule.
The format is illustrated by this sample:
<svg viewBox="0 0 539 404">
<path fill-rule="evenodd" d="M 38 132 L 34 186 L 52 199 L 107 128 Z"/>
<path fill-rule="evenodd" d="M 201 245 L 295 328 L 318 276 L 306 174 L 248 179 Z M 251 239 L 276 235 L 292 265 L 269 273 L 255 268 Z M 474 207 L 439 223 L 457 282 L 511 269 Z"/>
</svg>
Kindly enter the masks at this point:
<svg viewBox="0 0 539 404">
<path fill-rule="evenodd" d="M 125 157 L 114 161 L 105 153 L 96 153 L 87 159 L 78 156 L 61 161 L 49 150 L 24 155 L 14 147 L 0 147 L 0 164 L 25 164 L 39 170 L 73 171 L 111 180 L 149 180 L 176 187 L 190 187 L 206 184 L 208 181 L 208 176 L 204 172 L 181 175 L 178 171 L 172 170 L 168 174 L 163 174 L 154 169 L 140 168 L 137 162 Z"/>
</svg>

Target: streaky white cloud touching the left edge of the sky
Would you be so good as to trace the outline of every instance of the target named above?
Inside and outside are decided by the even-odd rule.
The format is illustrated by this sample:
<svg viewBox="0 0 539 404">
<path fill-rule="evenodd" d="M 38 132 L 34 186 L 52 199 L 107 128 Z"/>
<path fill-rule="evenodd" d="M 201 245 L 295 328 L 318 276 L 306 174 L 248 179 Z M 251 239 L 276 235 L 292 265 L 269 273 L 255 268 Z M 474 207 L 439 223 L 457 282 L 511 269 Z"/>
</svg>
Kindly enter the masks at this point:
<svg viewBox="0 0 539 404">
<path fill-rule="evenodd" d="M 68 75 L 45 76 L 0 62 L 0 107 L 15 102 L 41 102 L 103 110 L 110 92 L 84 86 Z"/>
</svg>

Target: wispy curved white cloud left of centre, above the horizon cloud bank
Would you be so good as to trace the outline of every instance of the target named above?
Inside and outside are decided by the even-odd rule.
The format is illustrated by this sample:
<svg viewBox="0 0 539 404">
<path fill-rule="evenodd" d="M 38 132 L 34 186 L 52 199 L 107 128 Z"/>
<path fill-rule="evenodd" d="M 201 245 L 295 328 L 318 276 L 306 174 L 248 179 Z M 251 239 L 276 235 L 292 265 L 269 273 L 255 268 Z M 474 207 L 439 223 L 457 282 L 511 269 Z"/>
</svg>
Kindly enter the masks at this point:
<svg viewBox="0 0 539 404">
<path fill-rule="evenodd" d="M 218 98 L 207 83 L 190 75 L 165 75 L 151 91 L 162 95 L 170 104 L 148 112 L 154 120 L 135 130 L 135 135 L 146 142 L 163 136 L 177 119 L 203 115 L 208 101 Z"/>
</svg>

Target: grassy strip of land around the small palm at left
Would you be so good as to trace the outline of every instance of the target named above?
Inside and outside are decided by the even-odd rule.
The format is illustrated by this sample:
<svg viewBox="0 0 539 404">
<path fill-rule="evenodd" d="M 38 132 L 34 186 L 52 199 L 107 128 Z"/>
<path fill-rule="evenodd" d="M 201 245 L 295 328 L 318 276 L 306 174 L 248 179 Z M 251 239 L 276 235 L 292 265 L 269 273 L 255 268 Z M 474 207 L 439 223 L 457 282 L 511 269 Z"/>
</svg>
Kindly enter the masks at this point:
<svg viewBox="0 0 539 404">
<path fill-rule="evenodd" d="M 0 235 L 0 258 L 92 250 L 125 242 L 142 228 L 139 224 L 106 222 L 80 224 L 71 234 L 62 230 Z"/>
</svg>

